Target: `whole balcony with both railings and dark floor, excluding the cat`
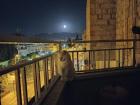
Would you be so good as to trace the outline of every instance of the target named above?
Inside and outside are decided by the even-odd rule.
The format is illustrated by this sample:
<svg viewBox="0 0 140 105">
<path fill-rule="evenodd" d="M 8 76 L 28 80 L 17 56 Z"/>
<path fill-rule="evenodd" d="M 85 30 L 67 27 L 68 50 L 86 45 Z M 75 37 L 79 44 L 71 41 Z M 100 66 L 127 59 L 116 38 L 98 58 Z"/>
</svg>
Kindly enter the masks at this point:
<svg viewBox="0 0 140 105">
<path fill-rule="evenodd" d="M 120 99 L 123 105 L 132 105 L 138 102 L 140 93 L 139 68 L 136 66 L 138 41 L 49 42 L 58 45 L 57 50 L 69 52 L 75 67 L 74 80 L 61 81 L 56 74 L 57 51 L 1 69 L 0 105 L 102 105 L 102 102 L 118 105 L 112 99 L 118 88 L 117 91 L 125 92 L 124 100 Z M 65 44 L 71 47 L 63 47 Z M 106 91 L 110 93 L 107 97 Z M 125 97 L 128 93 L 130 97 Z"/>
</svg>

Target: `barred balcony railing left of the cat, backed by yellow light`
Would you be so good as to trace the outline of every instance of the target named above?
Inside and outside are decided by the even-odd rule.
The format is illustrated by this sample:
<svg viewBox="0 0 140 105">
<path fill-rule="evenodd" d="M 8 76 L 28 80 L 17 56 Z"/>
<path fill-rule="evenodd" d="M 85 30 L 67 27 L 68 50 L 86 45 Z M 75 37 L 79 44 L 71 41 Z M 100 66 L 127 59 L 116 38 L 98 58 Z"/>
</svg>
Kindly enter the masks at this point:
<svg viewBox="0 0 140 105">
<path fill-rule="evenodd" d="M 28 105 L 38 102 L 42 90 L 55 83 L 54 56 L 44 56 L 0 70 L 0 104 Z"/>
</svg>

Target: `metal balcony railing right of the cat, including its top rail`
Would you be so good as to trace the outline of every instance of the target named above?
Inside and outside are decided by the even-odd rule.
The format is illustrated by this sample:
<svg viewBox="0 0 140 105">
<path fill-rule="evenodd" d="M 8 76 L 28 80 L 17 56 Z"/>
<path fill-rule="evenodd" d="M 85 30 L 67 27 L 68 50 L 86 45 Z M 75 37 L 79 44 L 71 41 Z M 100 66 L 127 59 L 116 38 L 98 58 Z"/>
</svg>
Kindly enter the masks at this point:
<svg viewBox="0 0 140 105">
<path fill-rule="evenodd" d="M 135 66 L 138 41 L 130 39 L 71 42 L 76 47 L 68 51 L 77 72 L 98 72 L 107 68 Z M 80 49 L 80 46 L 84 47 Z"/>
</svg>

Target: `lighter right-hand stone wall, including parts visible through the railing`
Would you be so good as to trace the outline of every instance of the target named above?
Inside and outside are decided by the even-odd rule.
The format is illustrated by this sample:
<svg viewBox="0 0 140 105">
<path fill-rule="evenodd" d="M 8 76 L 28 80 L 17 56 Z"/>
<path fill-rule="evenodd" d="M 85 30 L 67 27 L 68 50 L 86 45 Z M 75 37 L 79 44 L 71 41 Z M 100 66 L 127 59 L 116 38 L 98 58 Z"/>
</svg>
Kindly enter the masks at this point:
<svg viewBox="0 0 140 105">
<path fill-rule="evenodd" d="M 140 0 L 117 0 L 116 39 L 133 39 L 133 26 L 140 26 Z M 137 39 L 140 35 L 137 35 Z M 117 47 L 131 47 L 133 43 L 118 43 Z M 136 61 L 140 62 L 140 42 L 137 42 Z M 128 62 L 132 59 L 132 52 L 128 53 Z"/>
</svg>

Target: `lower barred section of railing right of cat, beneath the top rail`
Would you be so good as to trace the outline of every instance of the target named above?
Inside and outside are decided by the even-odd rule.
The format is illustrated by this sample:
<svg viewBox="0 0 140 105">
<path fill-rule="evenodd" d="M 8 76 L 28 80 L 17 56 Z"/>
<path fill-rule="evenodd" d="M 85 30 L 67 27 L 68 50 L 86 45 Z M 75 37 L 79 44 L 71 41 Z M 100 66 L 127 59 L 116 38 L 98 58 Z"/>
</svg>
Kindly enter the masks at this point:
<svg viewBox="0 0 140 105">
<path fill-rule="evenodd" d="M 80 72 L 87 70 L 97 71 L 99 69 L 103 70 L 106 68 L 115 68 L 115 67 L 120 68 L 133 66 L 133 63 L 128 62 L 127 61 L 128 58 L 125 58 L 128 51 L 133 53 L 133 48 L 98 49 L 86 51 L 79 50 L 79 51 L 69 51 L 69 53 L 72 56 L 72 61 L 75 64 L 76 71 Z M 84 59 L 81 60 L 80 57 L 84 56 L 85 54 L 87 57 L 85 58 L 85 60 Z M 117 57 L 113 58 L 111 54 L 116 54 Z M 99 59 L 98 56 L 101 56 L 101 59 Z"/>
</svg>

